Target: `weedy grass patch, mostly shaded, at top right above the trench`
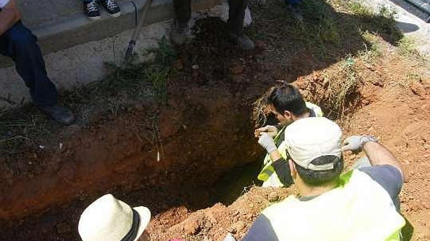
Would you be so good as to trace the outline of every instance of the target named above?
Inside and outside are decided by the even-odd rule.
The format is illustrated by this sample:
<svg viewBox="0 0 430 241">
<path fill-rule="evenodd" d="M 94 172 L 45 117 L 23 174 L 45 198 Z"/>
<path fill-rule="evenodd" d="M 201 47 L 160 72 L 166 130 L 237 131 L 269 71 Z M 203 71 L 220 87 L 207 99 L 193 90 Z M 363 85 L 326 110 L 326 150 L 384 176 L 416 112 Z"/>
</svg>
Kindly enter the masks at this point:
<svg viewBox="0 0 430 241">
<path fill-rule="evenodd" d="M 261 20 L 251 26 L 247 34 L 266 44 L 279 45 L 279 49 L 294 46 L 294 49 L 306 51 L 323 61 L 338 61 L 347 54 L 356 55 L 363 49 L 363 44 L 367 44 L 362 33 L 374 33 L 392 44 L 402 37 L 395 28 L 395 11 L 382 7 L 373 12 L 357 0 L 303 1 L 302 22 L 293 18 L 283 1 L 268 1 L 267 4 L 264 9 L 252 6 L 253 11 L 261 13 L 258 14 Z"/>
</svg>

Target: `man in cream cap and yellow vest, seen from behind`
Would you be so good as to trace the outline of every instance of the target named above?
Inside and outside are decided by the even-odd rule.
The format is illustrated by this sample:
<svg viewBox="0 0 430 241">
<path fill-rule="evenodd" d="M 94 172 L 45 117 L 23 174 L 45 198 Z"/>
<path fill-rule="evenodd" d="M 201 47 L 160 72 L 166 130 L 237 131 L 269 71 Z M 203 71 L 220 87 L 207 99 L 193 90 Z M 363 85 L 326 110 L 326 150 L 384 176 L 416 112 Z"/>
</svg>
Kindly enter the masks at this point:
<svg viewBox="0 0 430 241">
<path fill-rule="evenodd" d="M 400 241 L 405 220 L 393 202 L 403 184 L 400 163 L 375 138 L 352 136 L 343 149 L 363 149 L 371 166 L 341 175 L 341 138 L 340 127 L 323 117 L 285 129 L 300 194 L 264 209 L 242 241 Z"/>
</svg>

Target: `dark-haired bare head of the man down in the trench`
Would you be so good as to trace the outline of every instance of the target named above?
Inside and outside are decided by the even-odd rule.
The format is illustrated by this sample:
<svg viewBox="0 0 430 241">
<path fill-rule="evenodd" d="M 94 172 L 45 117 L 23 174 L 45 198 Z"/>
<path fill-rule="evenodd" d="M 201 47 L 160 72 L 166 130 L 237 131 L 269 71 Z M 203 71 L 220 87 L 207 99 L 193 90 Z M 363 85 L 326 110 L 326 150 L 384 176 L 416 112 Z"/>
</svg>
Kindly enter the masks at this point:
<svg viewBox="0 0 430 241">
<path fill-rule="evenodd" d="M 301 93 L 290 84 L 273 89 L 267 98 L 267 102 L 272 113 L 280 124 L 284 126 L 309 115 L 309 110 Z"/>
</svg>

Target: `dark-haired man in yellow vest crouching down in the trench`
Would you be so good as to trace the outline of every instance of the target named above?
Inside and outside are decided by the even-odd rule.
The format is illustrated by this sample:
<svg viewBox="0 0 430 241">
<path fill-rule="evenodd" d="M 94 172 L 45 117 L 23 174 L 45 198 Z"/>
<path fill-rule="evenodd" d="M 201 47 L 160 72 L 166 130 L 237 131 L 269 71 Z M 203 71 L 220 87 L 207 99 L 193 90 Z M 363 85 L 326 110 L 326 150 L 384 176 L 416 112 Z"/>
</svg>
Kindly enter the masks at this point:
<svg viewBox="0 0 430 241">
<path fill-rule="evenodd" d="M 290 171 L 285 168 L 287 158 L 284 143 L 284 130 L 290 123 L 307 117 L 322 117 L 323 111 L 315 104 L 305 102 L 301 93 L 293 85 L 286 84 L 276 87 L 267 98 L 267 104 L 272 113 L 278 119 L 276 126 L 265 126 L 255 130 L 255 136 L 259 138 L 258 143 L 264 147 L 263 140 L 273 138 L 276 146 L 275 150 L 283 159 L 276 160 L 270 158 L 271 149 L 267 150 L 267 155 L 263 160 L 264 167 L 258 174 L 258 180 L 263 181 L 262 186 L 281 187 L 293 183 Z M 268 140 L 270 141 L 270 140 Z"/>
</svg>

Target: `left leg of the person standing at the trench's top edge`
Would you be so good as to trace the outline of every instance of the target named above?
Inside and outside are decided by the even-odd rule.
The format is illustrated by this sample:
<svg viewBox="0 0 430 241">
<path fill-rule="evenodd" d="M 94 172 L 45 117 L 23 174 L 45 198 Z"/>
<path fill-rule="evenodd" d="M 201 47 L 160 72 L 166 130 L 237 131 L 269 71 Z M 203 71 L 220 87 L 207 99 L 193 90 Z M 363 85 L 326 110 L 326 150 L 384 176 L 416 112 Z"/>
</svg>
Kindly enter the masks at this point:
<svg viewBox="0 0 430 241">
<path fill-rule="evenodd" d="M 188 31 L 188 21 L 191 19 L 191 0 L 173 0 L 173 7 L 176 18 L 172 25 L 170 38 L 174 44 L 182 45 Z"/>
</svg>

